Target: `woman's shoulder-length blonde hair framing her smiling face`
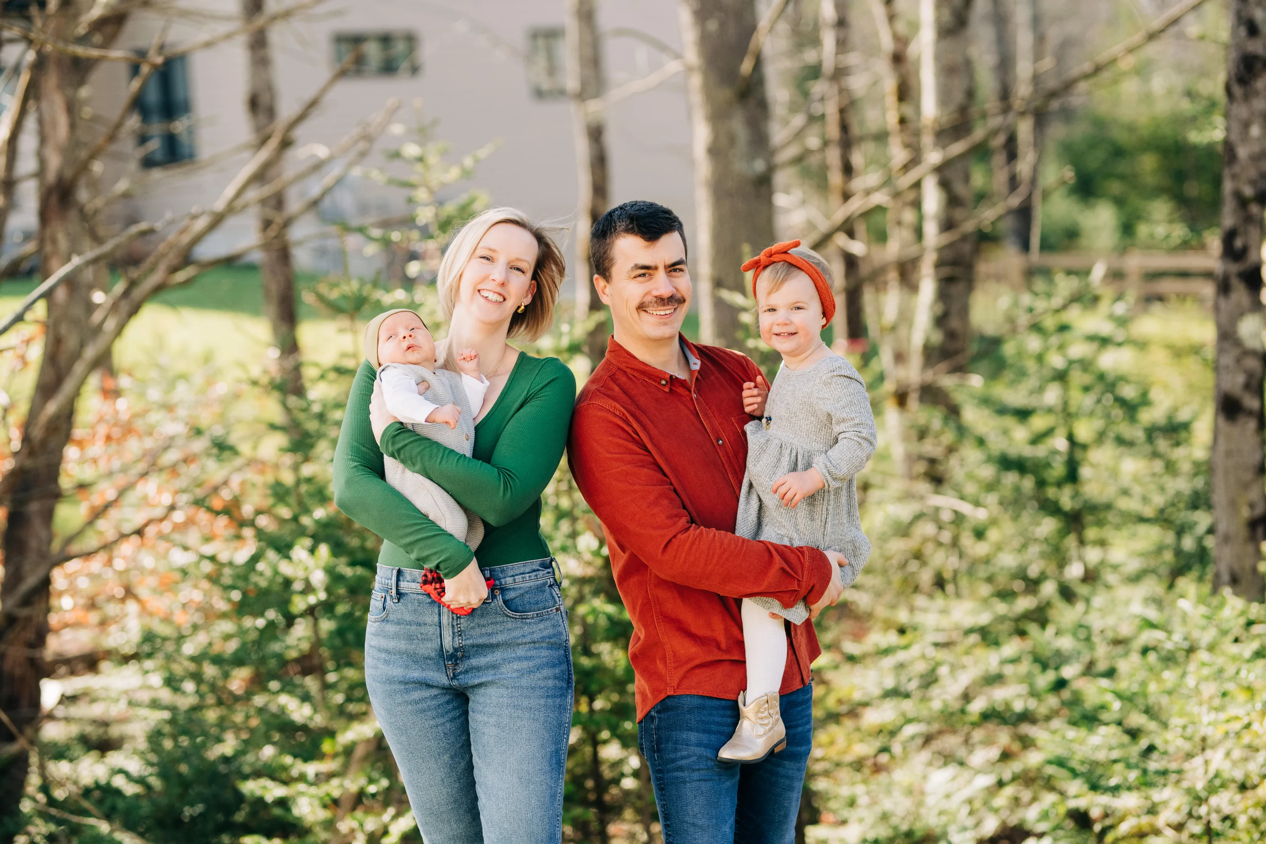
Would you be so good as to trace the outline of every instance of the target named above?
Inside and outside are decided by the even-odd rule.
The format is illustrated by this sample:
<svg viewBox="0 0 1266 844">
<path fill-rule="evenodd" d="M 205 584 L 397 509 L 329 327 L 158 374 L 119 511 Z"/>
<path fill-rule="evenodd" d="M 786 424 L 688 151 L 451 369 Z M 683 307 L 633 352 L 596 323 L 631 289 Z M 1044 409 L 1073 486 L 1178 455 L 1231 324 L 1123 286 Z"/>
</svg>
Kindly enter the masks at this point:
<svg viewBox="0 0 1266 844">
<path fill-rule="evenodd" d="M 532 268 L 532 280 L 537 291 L 532 301 L 520 314 L 518 310 L 510 318 L 509 337 L 534 340 L 553 324 L 553 309 L 558 302 L 558 289 L 562 287 L 567 272 L 567 261 L 544 227 L 537 225 L 528 215 L 513 208 L 490 208 L 470 219 L 453 238 L 439 262 L 439 275 L 436 287 L 439 291 L 439 310 L 446 320 L 452 319 L 457 306 L 457 289 L 461 286 L 462 271 L 470 263 L 471 256 L 480 240 L 498 223 L 510 223 L 528 232 L 537 239 L 537 262 Z"/>
</svg>

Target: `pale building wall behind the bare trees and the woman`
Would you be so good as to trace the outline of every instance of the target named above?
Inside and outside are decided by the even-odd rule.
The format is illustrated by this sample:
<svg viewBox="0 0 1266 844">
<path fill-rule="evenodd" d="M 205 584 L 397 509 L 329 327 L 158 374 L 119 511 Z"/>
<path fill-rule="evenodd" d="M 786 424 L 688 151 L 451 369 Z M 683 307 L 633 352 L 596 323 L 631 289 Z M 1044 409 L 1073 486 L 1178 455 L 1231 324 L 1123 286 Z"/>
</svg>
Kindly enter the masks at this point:
<svg viewBox="0 0 1266 844">
<path fill-rule="evenodd" d="M 168 43 L 182 44 L 230 25 L 234 0 L 205 0 L 204 22 L 173 22 Z M 641 78 L 671 54 L 653 46 L 680 49 L 675 0 L 608 0 L 599 20 L 606 37 L 608 87 Z M 570 219 L 576 206 L 576 164 L 571 106 L 565 99 L 539 100 L 530 90 L 525 58 L 528 33 L 536 27 L 561 27 L 562 0 L 329 0 L 301 19 L 272 29 L 276 81 L 282 113 L 290 113 L 327 78 L 334 67 L 333 37 L 338 32 L 410 29 L 419 38 L 422 68 L 411 77 L 348 77 L 338 82 L 318 111 L 299 129 L 295 151 L 306 144 L 333 147 L 360 120 L 399 97 L 398 120 L 411 127 L 413 102 L 420 99 L 427 119 L 438 119 L 437 137 L 452 144 L 453 156 L 499 142 L 466 187 L 485 190 L 494 204 L 513 205 L 536 219 Z M 168 22 L 172 23 L 172 22 Z M 144 49 L 161 24 L 137 22 L 119 47 Z M 652 38 L 638 38 L 636 32 Z M 143 171 L 124 216 L 158 219 L 182 214 L 215 200 L 238 167 L 249 137 L 244 105 L 246 56 L 233 40 L 189 57 L 197 167 Z M 113 85 L 125 84 L 125 76 Z M 630 96 L 609 110 L 611 201 L 649 199 L 676 210 L 693 232 L 693 183 L 685 80 L 677 75 L 652 91 Z M 379 147 L 400 143 L 385 137 Z M 295 156 L 291 154 L 291 166 Z M 384 163 L 379 152 L 366 164 Z M 208 164 L 206 162 L 213 162 Z M 292 192 L 294 202 L 305 189 Z M 349 180 L 342 190 L 347 204 L 366 216 L 404 210 L 403 192 L 367 180 Z M 311 230 L 315 216 L 296 227 Z M 209 238 L 201 256 L 248 243 L 253 218 L 228 221 Z M 318 271 L 333 270 L 333 252 L 305 247 L 299 261 Z M 571 258 L 568 252 L 568 259 Z M 365 267 L 362 266 L 362 270 Z"/>
</svg>

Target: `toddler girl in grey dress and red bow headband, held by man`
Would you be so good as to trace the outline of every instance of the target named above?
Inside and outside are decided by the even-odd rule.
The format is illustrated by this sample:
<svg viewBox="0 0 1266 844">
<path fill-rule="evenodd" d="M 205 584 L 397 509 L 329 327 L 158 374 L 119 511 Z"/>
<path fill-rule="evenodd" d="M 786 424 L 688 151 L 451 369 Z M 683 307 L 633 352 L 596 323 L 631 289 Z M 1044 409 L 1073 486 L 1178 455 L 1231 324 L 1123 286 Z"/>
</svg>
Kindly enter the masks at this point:
<svg viewBox="0 0 1266 844">
<path fill-rule="evenodd" d="M 848 559 L 839 569 L 847 587 L 870 555 L 855 476 L 875 453 L 875 416 L 857 369 L 822 342 L 836 313 L 830 267 L 791 240 L 744 263 L 748 270 L 761 339 L 781 353 L 782 366 L 763 409 L 755 390 L 744 391 L 744 409 L 763 418 L 747 424 L 734 533 L 839 552 Z M 809 609 L 804 601 L 785 609 L 753 597 L 743 600 L 742 617 L 747 690 L 738 698 L 734 736 L 717 755 L 722 762 L 760 762 L 786 747 L 779 715 L 787 655 L 782 619 L 801 624 Z"/>
</svg>

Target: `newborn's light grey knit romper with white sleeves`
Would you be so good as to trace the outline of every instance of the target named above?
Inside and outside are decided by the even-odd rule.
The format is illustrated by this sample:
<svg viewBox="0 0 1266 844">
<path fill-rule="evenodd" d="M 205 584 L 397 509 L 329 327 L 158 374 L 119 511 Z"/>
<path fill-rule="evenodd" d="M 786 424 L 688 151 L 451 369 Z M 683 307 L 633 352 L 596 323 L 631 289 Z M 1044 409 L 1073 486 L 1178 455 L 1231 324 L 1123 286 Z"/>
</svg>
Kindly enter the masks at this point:
<svg viewBox="0 0 1266 844">
<path fill-rule="evenodd" d="M 462 377 L 447 369 L 432 372 L 411 363 L 384 363 L 379 367 L 379 373 L 381 375 L 387 367 L 408 372 L 415 383 L 423 381 L 429 383 L 425 397 L 433 405 L 441 407 L 457 405 L 462 409 L 456 429 L 442 423 L 400 424 L 427 439 L 433 439 L 441 445 L 447 445 L 454 452 L 470 457 L 475 448 L 475 414 L 479 413 L 479 407 L 471 407 L 470 397 L 462 386 Z M 443 487 L 428 477 L 410 472 L 400 461 L 386 454 L 382 456 L 382 475 L 387 483 L 399 490 L 404 497 L 413 502 L 413 506 L 422 511 L 422 515 L 470 545 L 471 550 L 479 547 L 484 539 L 484 521 L 457 504 Z"/>
</svg>

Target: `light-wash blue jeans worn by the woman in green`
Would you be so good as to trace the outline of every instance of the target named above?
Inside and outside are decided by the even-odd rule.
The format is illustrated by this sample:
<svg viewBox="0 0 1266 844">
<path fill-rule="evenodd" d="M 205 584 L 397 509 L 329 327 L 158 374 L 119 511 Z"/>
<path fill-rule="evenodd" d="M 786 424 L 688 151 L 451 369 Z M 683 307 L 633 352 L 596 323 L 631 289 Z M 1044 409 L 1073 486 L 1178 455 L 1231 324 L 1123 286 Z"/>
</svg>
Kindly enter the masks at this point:
<svg viewBox="0 0 1266 844">
<path fill-rule="evenodd" d="M 427 844 L 558 844 L 571 644 L 552 559 L 484 569 L 466 616 L 379 566 L 365 683 Z"/>
</svg>

